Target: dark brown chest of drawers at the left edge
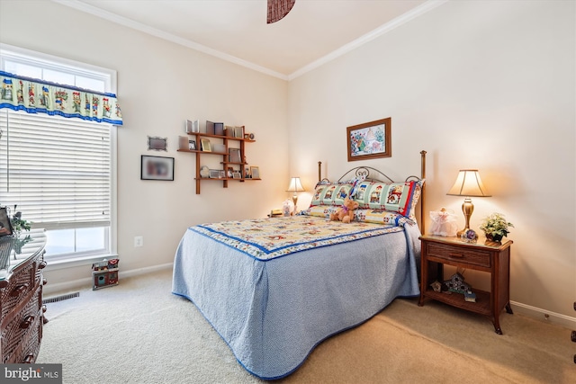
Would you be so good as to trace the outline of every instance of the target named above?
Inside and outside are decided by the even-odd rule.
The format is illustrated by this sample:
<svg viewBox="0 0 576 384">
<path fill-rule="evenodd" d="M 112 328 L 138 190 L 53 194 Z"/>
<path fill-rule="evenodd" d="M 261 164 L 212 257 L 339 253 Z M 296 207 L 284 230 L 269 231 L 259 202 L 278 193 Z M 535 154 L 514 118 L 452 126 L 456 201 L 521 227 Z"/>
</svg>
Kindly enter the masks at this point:
<svg viewBox="0 0 576 384">
<path fill-rule="evenodd" d="M 40 351 L 45 246 L 42 229 L 0 237 L 1 363 L 35 362 Z"/>
</svg>

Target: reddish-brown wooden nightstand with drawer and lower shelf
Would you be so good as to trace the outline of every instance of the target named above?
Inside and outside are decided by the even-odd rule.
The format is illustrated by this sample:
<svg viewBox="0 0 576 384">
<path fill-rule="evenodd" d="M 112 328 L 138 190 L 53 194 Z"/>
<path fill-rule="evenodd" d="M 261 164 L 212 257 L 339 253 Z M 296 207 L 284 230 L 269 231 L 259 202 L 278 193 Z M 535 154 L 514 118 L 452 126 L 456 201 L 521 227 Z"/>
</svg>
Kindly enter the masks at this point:
<svg viewBox="0 0 576 384">
<path fill-rule="evenodd" d="M 503 308 L 511 314 L 510 308 L 510 246 L 511 240 L 502 244 L 486 241 L 483 237 L 476 244 L 466 243 L 457 237 L 425 235 L 422 241 L 422 270 L 420 278 L 419 306 L 424 299 L 436 299 L 457 308 L 463 308 L 490 317 L 496 333 L 500 329 L 500 312 Z M 491 291 L 476 290 L 476 302 L 464 300 L 460 293 L 437 292 L 430 287 L 434 281 L 443 282 L 444 264 L 455 267 L 488 272 L 491 274 Z"/>
</svg>

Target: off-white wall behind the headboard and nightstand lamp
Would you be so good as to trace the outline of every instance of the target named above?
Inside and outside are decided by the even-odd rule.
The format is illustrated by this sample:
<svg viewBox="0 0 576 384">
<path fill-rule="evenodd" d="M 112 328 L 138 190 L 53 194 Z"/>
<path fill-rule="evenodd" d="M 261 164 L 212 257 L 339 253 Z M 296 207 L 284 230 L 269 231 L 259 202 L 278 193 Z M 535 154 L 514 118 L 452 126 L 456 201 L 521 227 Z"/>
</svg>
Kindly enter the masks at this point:
<svg viewBox="0 0 576 384">
<path fill-rule="evenodd" d="M 473 199 L 471 226 L 493 211 L 515 224 L 513 308 L 573 321 L 574 4 L 449 2 L 294 79 L 293 173 L 312 180 L 321 160 L 330 178 L 365 164 L 402 179 L 419 172 L 425 149 L 428 209 L 455 210 L 464 228 L 464 198 L 446 192 L 459 169 L 480 169 L 493 196 Z M 346 127 L 386 117 L 392 157 L 348 163 Z M 464 276 L 490 287 L 481 272 Z"/>
</svg>

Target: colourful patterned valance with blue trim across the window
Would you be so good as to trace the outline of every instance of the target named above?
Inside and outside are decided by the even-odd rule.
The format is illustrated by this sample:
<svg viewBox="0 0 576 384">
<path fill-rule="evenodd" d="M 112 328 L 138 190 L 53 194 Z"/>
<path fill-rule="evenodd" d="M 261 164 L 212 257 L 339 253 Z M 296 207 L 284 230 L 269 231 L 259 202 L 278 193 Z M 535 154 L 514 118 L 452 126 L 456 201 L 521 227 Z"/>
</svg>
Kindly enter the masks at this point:
<svg viewBox="0 0 576 384">
<path fill-rule="evenodd" d="M 0 109 L 122 125 L 122 114 L 115 94 L 101 94 L 3 71 L 0 71 L 0 82 Z"/>
</svg>

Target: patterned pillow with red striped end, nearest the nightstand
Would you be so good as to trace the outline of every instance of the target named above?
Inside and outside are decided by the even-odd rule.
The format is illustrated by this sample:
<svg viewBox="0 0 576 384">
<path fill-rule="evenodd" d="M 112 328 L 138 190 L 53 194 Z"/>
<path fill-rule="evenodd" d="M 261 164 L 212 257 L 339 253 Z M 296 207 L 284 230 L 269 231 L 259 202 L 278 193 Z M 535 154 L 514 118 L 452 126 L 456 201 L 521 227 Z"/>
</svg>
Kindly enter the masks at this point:
<svg viewBox="0 0 576 384">
<path fill-rule="evenodd" d="M 389 210 L 410 217 L 416 183 L 361 182 L 357 185 L 354 200 L 359 204 L 358 209 Z"/>
</svg>

